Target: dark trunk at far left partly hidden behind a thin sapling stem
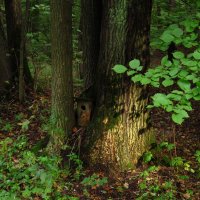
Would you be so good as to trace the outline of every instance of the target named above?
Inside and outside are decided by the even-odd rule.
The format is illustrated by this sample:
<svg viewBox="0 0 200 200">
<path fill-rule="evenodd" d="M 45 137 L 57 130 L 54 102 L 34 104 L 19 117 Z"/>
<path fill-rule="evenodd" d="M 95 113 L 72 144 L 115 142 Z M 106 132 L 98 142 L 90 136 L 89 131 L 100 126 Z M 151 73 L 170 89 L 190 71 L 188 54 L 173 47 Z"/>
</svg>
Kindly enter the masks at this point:
<svg viewBox="0 0 200 200">
<path fill-rule="evenodd" d="M 12 72 L 15 77 L 19 75 L 20 65 L 20 43 L 22 28 L 22 9 L 20 0 L 5 0 L 6 24 L 7 24 L 7 42 L 10 51 Z M 32 82 L 26 50 L 24 49 L 24 76 L 26 83 Z"/>
</svg>

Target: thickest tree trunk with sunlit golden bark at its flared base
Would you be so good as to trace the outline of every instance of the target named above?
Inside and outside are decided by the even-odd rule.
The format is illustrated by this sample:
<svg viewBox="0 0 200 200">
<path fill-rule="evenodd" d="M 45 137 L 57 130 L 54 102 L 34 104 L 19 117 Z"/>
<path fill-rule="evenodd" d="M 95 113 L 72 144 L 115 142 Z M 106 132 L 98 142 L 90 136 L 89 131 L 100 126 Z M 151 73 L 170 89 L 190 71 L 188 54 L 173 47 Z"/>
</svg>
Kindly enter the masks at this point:
<svg viewBox="0 0 200 200">
<path fill-rule="evenodd" d="M 111 171 L 134 168 L 154 139 L 148 127 L 145 88 L 112 71 L 115 64 L 134 58 L 149 67 L 151 6 L 145 0 L 103 0 L 97 105 L 85 145 L 89 163 L 103 164 Z"/>
</svg>

